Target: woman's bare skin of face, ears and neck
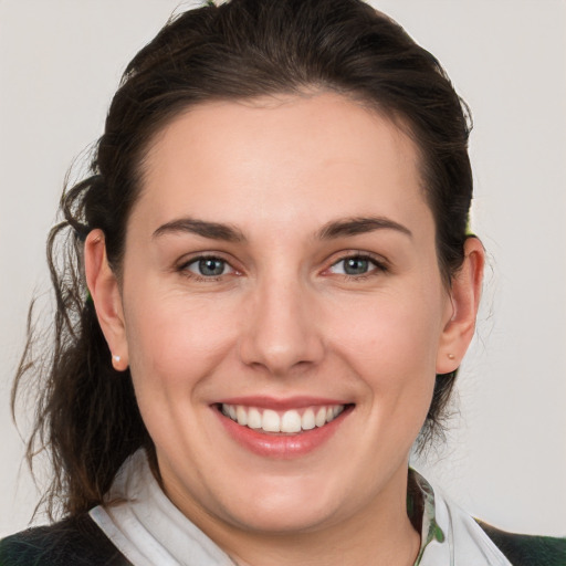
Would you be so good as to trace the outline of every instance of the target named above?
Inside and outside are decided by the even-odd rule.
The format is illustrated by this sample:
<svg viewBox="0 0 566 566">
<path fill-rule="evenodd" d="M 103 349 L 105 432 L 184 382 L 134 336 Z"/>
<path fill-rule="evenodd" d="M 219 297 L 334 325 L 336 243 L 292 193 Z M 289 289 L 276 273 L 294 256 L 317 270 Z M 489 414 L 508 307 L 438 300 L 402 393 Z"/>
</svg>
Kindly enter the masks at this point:
<svg viewBox="0 0 566 566">
<path fill-rule="evenodd" d="M 120 280 L 101 231 L 85 266 L 169 499 L 239 564 L 412 564 L 409 451 L 436 374 L 470 343 L 483 268 L 469 239 L 443 285 L 412 142 L 336 94 L 219 102 L 172 120 L 144 167 Z M 189 217 L 240 239 L 159 231 Z M 322 237 L 369 217 L 391 226 Z M 202 253 L 226 262 L 220 276 L 199 274 Z M 366 273 L 344 272 L 352 255 L 368 258 Z M 212 405 L 242 395 L 353 409 L 322 446 L 282 460 L 222 427 Z"/>
</svg>

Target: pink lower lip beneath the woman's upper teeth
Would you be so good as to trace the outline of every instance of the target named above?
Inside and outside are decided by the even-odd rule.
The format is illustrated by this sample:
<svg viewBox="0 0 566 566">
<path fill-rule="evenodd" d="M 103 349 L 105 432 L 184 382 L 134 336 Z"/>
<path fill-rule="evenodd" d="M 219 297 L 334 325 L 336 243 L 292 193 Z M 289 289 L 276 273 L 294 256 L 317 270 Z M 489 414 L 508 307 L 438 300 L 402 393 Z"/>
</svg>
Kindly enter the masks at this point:
<svg viewBox="0 0 566 566">
<path fill-rule="evenodd" d="M 287 460 L 306 455 L 327 442 L 349 415 L 350 409 L 352 407 L 346 407 L 338 417 L 324 427 L 305 430 L 296 434 L 258 432 L 249 427 L 238 424 L 218 409 L 214 410 L 228 433 L 240 446 L 259 455 Z"/>
</svg>

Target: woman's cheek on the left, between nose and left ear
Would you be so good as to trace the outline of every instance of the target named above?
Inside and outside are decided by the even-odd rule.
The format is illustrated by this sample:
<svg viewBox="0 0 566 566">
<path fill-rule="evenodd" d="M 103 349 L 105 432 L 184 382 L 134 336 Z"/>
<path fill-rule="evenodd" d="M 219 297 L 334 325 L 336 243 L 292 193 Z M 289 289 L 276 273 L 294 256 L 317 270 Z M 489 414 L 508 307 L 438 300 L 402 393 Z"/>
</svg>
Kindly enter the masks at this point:
<svg viewBox="0 0 566 566">
<path fill-rule="evenodd" d="M 128 296 L 130 373 L 143 420 L 161 457 L 184 452 L 198 461 L 186 431 L 198 427 L 210 376 L 233 352 L 227 308 L 139 287 Z"/>
</svg>

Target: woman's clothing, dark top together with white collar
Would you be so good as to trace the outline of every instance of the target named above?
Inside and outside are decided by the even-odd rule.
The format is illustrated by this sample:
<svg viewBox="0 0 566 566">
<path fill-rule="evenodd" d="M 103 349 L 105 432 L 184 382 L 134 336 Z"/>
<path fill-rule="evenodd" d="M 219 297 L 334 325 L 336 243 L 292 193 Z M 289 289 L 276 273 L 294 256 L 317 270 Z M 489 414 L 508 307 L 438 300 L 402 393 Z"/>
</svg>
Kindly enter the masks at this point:
<svg viewBox="0 0 566 566">
<path fill-rule="evenodd" d="M 416 488 L 412 493 L 420 494 L 419 505 L 410 509 L 421 513 L 417 518 L 422 525 L 415 566 L 566 566 L 566 539 L 480 526 L 415 471 L 410 484 Z M 122 501 L 6 538 L 0 543 L 0 566 L 235 564 L 167 499 L 145 452 L 126 461 L 108 496 Z"/>
</svg>

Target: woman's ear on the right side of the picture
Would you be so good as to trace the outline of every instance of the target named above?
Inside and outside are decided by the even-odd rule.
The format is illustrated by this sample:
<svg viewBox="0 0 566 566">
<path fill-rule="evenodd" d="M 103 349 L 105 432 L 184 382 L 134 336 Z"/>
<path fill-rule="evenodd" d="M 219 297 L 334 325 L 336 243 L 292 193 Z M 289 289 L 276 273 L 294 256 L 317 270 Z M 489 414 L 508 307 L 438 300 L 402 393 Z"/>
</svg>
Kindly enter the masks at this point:
<svg viewBox="0 0 566 566">
<path fill-rule="evenodd" d="M 457 369 L 472 340 L 480 306 L 485 250 L 475 237 L 464 243 L 464 262 L 452 277 L 451 304 L 448 304 L 444 327 L 437 354 L 437 374 Z"/>
</svg>

